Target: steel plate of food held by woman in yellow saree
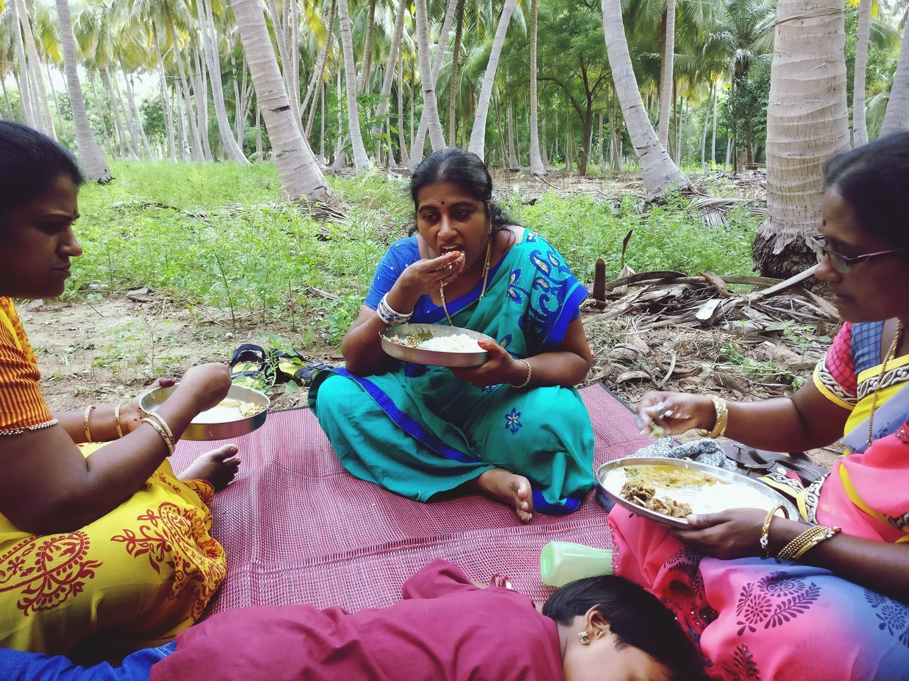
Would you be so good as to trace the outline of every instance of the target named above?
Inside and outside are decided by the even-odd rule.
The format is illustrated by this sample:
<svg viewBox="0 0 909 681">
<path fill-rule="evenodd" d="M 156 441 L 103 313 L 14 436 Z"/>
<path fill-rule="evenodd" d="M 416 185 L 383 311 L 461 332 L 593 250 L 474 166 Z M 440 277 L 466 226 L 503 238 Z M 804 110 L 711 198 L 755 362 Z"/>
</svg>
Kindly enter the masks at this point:
<svg viewBox="0 0 909 681">
<path fill-rule="evenodd" d="M 174 392 L 175 386 L 149 390 L 139 398 L 144 416 L 157 410 Z M 239 438 L 262 426 L 271 400 L 258 390 L 232 385 L 224 400 L 210 410 L 196 414 L 180 439 L 209 440 Z"/>
</svg>

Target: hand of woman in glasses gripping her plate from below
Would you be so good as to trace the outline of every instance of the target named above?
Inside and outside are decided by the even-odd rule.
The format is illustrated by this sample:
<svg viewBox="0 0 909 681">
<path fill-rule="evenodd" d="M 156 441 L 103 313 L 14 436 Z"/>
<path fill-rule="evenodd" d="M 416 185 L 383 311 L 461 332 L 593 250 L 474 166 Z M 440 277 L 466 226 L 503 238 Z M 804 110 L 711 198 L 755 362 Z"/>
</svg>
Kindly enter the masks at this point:
<svg viewBox="0 0 909 681">
<path fill-rule="evenodd" d="M 673 536 L 698 553 L 714 558 L 745 558 L 761 555 L 761 529 L 766 511 L 760 508 L 730 508 L 720 513 L 688 516 L 690 528 L 675 529 Z"/>
</svg>

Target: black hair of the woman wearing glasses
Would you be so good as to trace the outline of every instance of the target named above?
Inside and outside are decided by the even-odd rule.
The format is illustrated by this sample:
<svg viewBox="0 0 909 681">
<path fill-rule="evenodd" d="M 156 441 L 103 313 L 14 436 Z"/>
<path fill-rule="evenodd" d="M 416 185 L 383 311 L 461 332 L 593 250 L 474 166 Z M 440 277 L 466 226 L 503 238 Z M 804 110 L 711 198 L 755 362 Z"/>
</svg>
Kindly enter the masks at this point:
<svg viewBox="0 0 909 681">
<path fill-rule="evenodd" d="M 909 132 L 888 134 L 840 153 L 824 169 L 859 226 L 894 246 L 909 246 Z"/>
</svg>

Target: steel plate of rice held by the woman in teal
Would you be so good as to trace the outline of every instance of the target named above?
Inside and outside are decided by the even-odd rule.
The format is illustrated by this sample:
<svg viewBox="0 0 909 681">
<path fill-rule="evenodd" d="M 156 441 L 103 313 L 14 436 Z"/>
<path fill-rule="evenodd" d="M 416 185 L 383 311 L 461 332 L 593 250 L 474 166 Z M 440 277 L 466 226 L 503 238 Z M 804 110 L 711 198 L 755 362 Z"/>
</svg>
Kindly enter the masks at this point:
<svg viewBox="0 0 909 681">
<path fill-rule="evenodd" d="M 489 353 L 476 341 L 495 340 L 485 333 L 440 324 L 400 324 L 379 332 L 382 350 L 398 360 L 435 367 L 479 367 Z"/>
</svg>

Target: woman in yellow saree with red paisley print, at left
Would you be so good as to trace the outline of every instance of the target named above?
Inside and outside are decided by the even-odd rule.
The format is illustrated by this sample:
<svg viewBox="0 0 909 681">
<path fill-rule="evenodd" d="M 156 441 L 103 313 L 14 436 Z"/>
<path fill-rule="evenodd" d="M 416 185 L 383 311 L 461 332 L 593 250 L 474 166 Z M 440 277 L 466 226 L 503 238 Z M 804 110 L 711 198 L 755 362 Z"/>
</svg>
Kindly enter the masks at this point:
<svg viewBox="0 0 909 681">
<path fill-rule="evenodd" d="M 63 292 L 80 183 L 59 144 L 0 123 L 0 646 L 117 657 L 175 637 L 224 579 L 206 503 L 239 460 L 218 449 L 178 478 L 166 459 L 226 394 L 223 365 L 187 371 L 159 419 L 49 410 L 12 299 Z"/>
</svg>

